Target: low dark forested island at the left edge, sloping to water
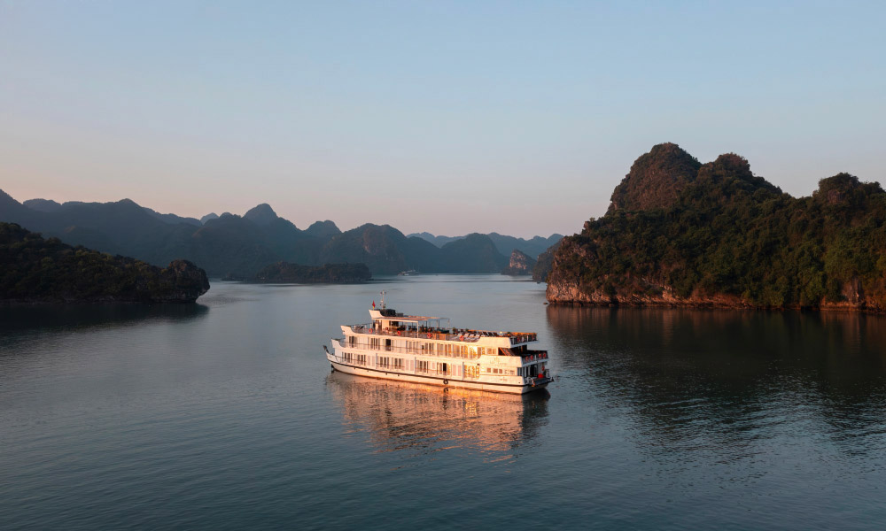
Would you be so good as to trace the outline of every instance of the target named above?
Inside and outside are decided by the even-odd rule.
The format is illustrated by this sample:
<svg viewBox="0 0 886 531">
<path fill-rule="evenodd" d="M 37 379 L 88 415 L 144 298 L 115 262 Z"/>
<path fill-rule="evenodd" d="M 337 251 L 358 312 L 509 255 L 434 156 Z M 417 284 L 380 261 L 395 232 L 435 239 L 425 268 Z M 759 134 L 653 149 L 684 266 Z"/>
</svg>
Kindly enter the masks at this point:
<svg viewBox="0 0 886 531">
<path fill-rule="evenodd" d="M 208 289 L 186 260 L 160 268 L 0 223 L 0 303 L 192 303 Z"/>
</svg>

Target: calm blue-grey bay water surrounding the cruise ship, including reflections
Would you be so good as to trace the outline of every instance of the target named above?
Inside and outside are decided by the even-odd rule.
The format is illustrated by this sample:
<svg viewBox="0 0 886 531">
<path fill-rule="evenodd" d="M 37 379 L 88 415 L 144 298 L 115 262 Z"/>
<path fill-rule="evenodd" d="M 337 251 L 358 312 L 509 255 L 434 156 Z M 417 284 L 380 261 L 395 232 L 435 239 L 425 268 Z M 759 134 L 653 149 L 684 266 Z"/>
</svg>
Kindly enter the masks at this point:
<svg viewBox="0 0 886 531">
<path fill-rule="evenodd" d="M 521 398 L 331 374 L 400 311 L 538 331 Z M 886 319 L 554 308 L 499 276 L 0 309 L 0 528 L 882 529 Z"/>
</svg>

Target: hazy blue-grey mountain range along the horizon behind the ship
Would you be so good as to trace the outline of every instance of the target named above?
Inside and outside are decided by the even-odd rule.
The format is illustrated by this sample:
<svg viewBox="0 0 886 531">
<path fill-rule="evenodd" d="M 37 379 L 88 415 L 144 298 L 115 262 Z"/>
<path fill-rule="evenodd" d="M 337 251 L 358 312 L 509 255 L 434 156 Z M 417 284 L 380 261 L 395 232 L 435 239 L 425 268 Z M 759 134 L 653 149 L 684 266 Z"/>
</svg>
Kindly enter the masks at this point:
<svg viewBox="0 0 886 531">
<path fill-rule="evenodd" d="M 508 266 L 511 250 L 532 254 L 547 249 L 551 239 L 559 241 L 559 235 L 524 240 L 472 234 L 438 247 L 388 225 L 368 223 L 342 232 L 328 219 L 301 230 L 279 217 L 269 204 L 256 205 L 243 216 L 224 212 L 195 219 L 160 214 L 130 199 L 64 204 L 34 199 L 26 203 L 0 190 L 0 221 L 154 265 L 185 258 L 211 276 L 237 278 L 253 278 L 262 268 L 279 262 L 299 266 L 363 263 L 374 274 L 407 270 L 500 273 Z"/>
</svg>

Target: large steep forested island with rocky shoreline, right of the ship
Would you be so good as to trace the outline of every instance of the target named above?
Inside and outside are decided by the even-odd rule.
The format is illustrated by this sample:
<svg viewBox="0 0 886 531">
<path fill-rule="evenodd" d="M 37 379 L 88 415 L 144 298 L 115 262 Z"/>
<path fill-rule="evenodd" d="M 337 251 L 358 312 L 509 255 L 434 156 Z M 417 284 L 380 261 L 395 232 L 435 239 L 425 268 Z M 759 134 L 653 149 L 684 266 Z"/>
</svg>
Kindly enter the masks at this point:
<svg viewBox="0 0 886 531">
<path fill-rule="evenodd" d="M 795 198 L 733 153 L 659 144 L 563 239 L 548 301 L 883 312 L 884 221 L 879 183 L 840 173 Z"/>
</svg>

